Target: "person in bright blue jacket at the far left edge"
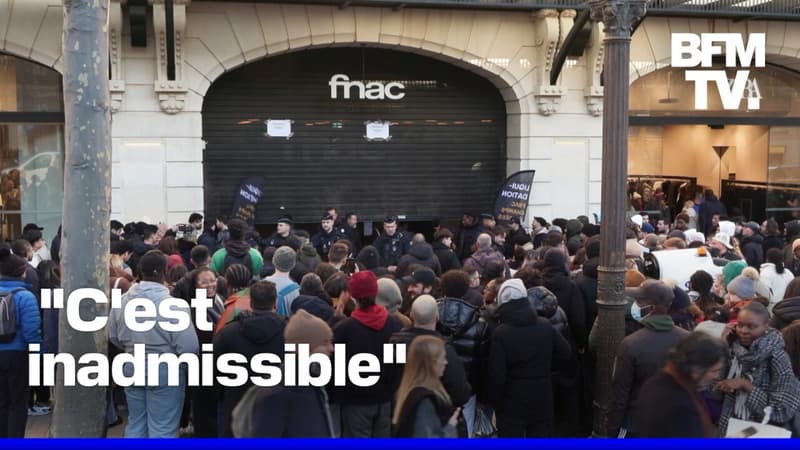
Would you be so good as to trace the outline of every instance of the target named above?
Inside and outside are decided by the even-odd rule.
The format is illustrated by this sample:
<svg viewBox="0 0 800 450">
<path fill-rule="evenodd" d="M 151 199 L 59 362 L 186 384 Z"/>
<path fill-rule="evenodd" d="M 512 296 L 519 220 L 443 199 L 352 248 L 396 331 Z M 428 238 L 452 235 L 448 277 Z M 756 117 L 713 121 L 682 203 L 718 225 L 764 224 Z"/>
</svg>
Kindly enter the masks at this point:
<svg viewBox="0 0 800 450">
<path fill-rule="evenodd" d="M 0 308 L 16 311 L 13 329 L 0 329 L 5 338 L 0 343 L 0 381 L 4 391 L 0 415 L 6 421 L 0 437 L 25 437 L 30 392 L 28 345 L 42 342 L 39 304 L 28 291 L 29 285 L 23 281 L 27 267 L 28 262 L 11 253 L 8 245 L 0 246 L 0 291 L 7 293 L 0 298 Z M 3 320 L 3 325 L 12 325 L 4 317 L 0 320 Z"/>
</svg>

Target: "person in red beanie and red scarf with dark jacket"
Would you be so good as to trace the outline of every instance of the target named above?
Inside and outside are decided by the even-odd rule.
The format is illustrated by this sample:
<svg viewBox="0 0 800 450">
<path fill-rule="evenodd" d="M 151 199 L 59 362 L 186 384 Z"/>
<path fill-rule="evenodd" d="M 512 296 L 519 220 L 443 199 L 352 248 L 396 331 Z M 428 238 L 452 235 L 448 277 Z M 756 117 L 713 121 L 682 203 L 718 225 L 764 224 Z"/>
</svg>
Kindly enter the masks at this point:
<svg viewBox="0 0 800 450">
<path fill-rule="evenodd" d="M 369 353 L 381 361 L 378 382 L 358 387 L 349 382 L 333 388 L 332 403 L 341 405 L 342 437 L 389 437 L 391 402 L 394 395 L 391 364 L 383 363 L 383 344 L 402 329 L 400 320 L 375 303 L 378 280 L 370 271 L 354 273 L 348 282 L 357 307 L 333 329 L 334 342 L 345 344 L 346 358 Z"/>
</svg>

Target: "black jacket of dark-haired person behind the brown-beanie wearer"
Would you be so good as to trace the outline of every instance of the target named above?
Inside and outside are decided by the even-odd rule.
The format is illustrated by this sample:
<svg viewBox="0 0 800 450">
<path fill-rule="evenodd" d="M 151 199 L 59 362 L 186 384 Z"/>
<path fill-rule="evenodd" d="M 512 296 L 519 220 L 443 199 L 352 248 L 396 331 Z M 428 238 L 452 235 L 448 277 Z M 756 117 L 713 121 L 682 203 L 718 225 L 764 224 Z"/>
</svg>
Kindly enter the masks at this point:
<svg viewBox="0 0 800 450">
<path fill-rule="evenodd" d="M 285 327 L 286 321 L 272 311 L 242 313 L 214 336 L 214 359 L 226 353 L 244 355 L 248 361 L 258 353 L 272 353 L 282 357 Z M 257 374 L 251 371 L 249 375 Z M 223 437 L 233 437 L 231 431 L 233 408 L 251 386 L 252 383 L 248 378 L 248 382 L 242 386 L 221 388 Z"/>
</svg>

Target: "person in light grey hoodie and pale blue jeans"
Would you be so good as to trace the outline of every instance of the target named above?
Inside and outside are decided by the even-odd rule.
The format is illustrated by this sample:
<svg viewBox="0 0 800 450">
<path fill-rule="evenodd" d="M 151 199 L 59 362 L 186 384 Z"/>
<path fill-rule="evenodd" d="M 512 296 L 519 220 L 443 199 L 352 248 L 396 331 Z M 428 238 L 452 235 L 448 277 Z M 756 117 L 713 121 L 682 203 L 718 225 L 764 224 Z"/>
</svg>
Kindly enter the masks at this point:
<svg viewBox="0 0 800 450">
<path fill-rule="evenodd" d="M 145 354 L 170 353 L 178 357 L 185 353 L 197 354 L 200 344 L 194 327 L 181 331 L 167 331 L 160 326 L 155 326 L 148 331 L 132 330 L 123 318 L 123 311 L 127 311 L 130 302 L 140 302 L 143 299 L 151 302 L 152 310 L 156 312 L 152 319 L 155 322 L 165 323 L 170 319 L 161 314 L 166 308 L 161 308 L 162 302 L 173 300 L 172 295 L 165 285 L 167 269 L 167 256 L 159 250 L 151 250 L 142 256 L 139 261 L 141 281 L 134 284 L 122 297 L 122 307 L 113 308 L 108 314 L 108 339 L 132 355 L 134 345 L 144 343 Z M 175 312 L 176 308 L 171 308 Z M 184 302 L 177 308 L 182 314 L 193 316 L 189 304 Z M 131 356 L 132 357 L 132 356 Z M 125 397 L 128 404 L 128 423 L 125 427 L 125 437 L 177 437 L 180 426 L 183 400 L 185 397 L 184 378 L 178 380 L 178 385 L 167 384 L 167 367 L 159 367 L 159 384 L 153 386 L 129 386 L 125 388 Z M 152 380 L 151 380 L 152 381 Z M 163 384 L 161 384 L 163 383 Z M 157 396 L 160 401 L 148 402 L 149 396 Z"/>
</svg>

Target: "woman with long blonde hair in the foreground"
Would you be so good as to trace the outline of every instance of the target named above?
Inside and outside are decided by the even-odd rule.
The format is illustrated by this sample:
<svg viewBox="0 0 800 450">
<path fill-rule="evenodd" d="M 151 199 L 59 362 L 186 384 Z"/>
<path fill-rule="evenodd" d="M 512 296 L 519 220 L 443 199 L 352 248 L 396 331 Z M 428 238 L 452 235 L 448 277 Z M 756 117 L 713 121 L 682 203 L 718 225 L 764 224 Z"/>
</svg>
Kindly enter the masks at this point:
<svg viewBox="0 0 800 450">
<path fill-rule="evenodd" d="M 450 396 L 442 386 L 446 366 L 441 338 L 419 336 L 411 342 L 392 417 L 396 437 L 456 437 L 461 408 L 453 411 Z"/>
</svg>

